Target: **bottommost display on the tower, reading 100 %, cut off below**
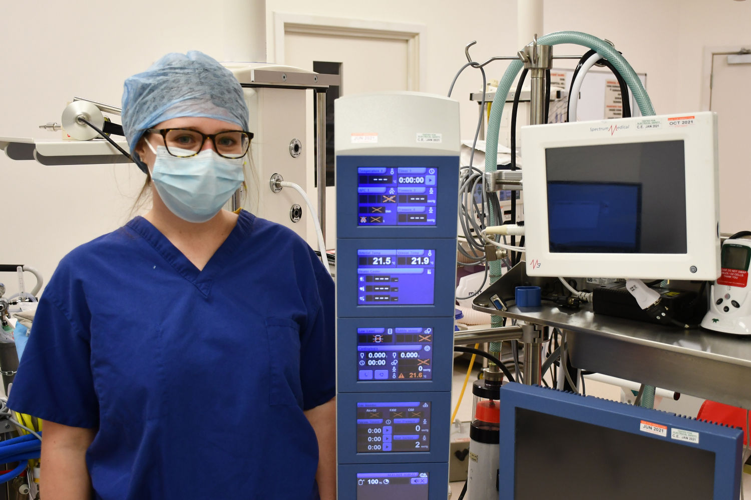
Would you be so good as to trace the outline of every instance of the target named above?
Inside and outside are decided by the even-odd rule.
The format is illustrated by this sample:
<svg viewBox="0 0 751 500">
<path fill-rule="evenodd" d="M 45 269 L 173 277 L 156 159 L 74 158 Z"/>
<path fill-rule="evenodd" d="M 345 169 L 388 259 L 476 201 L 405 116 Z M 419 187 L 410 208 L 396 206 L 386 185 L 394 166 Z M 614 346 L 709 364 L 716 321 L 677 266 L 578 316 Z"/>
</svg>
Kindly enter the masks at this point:
<svg viewBox="0 0 751 500">
<path fill-rule="evenodd" d="M 427 472 L 357 474 L 357 500 L 428 500 Z"/>
</svg>

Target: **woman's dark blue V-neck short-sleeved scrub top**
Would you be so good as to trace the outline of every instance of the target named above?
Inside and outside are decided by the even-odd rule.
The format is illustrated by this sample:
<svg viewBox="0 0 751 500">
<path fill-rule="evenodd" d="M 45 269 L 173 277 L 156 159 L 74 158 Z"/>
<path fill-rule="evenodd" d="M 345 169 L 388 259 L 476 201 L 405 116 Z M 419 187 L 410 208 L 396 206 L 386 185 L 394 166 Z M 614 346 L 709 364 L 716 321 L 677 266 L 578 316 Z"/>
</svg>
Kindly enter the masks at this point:
<svg viewBox="0 0 751 500">
<path fill-rule="evenodd" d="M 98 427 L 97 499 L 313 498 L 303 410 L 336 394 L 333 288 L 246 211 L 203 271 L 136 217 L 62 259 L 8 405 Z"/>
</svg>

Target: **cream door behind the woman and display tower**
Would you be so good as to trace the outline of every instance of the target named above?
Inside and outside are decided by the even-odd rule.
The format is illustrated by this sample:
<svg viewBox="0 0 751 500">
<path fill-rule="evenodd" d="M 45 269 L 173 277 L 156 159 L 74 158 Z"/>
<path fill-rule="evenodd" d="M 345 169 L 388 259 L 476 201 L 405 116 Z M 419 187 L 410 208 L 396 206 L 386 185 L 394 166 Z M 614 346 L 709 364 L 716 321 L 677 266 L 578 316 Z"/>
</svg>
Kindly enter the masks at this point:
<svg viewBox="0 0 751 500">
<path fill-rule="evenodd" d="M 416 82 L 410 74 L 409 44 L 407 40 L 339 36 L 328 34 L 285 33 L 285 64 L 313 70 L 313 61 L 341 63 L 342 85 L 340 94 L 358 94 L 372 91 L 411 90 L 409 81 Z M 415 68 L 417 70 L 417 68 Z M 410 78 L 412 76 L 412 78 Z M 415 88 L 416 90 L 416 88 Z M 313 106 L 309 91 L 309 109 Z M 312 130 L 309 144 L 312 144 Z M 309 166 L 308 193 L 316 199 L 312 166 Z M 315 247 L 315 230 L 309 219 L 308 241 Z M 326 189 L 326 247 L 336 242 L 336 187 Z"/>
</svg>

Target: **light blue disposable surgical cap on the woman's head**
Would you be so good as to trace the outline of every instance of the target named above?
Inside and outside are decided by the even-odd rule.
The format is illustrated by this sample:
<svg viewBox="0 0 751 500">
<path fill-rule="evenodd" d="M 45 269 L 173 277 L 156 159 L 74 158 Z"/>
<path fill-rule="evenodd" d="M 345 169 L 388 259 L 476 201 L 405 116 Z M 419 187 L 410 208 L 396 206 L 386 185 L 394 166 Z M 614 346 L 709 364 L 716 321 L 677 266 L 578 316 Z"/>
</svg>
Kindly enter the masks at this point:
<svg viewBox="0 0 751 500">
<path fill-rule="evenodd" d="M 164 55 L 148 70 L 126 79 L 122 92 L 122 128 L 131 153 L 147 128 L 182 116 L 216 118 L 248 130 L 240 82 L 198 50 Z"/>
</svg>

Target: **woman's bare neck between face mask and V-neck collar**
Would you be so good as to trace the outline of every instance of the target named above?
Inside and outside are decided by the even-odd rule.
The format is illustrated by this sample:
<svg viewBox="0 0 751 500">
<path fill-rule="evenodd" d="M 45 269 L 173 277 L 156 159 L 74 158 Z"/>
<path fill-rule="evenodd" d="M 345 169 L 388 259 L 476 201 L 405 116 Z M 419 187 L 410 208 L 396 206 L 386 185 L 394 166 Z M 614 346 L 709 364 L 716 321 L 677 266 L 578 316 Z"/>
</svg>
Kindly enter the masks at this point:
<svg viewBox="0 0 751 500">
<path fill-rule="evenodd" d="M 173 214 L 153 187 L 152 199 L 152 208 L 143 218 L 152 223 L 199 271 L 219 250 L 237 223 L 237 214 L 226 210 L 220 210 L 219 214 L 206 222 L 188 222 Z"/>
</svg>

